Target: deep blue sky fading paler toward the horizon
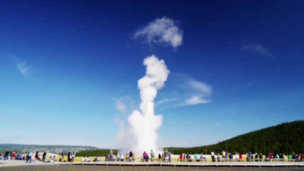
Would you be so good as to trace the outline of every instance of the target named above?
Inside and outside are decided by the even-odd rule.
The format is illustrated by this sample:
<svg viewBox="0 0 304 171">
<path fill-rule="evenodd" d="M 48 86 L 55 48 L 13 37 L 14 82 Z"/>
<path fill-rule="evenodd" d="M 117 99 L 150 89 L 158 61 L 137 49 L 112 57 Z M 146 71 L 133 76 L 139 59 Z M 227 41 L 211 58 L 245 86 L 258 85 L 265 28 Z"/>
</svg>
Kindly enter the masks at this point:
<svg viewBox="0 0 304 171">
<path fill-rule="evenodd" d="M 112 141 L 139 108 L 137 80 L 151 54 L 170 70 L 155 98 L 162 146 L 211 144 L 303 119 L 303 7 L 2 1 L 0 143 L 119 147 Z M 163 17 L 181 31 L 180 45 L 134 36 Z"/>
</svg>

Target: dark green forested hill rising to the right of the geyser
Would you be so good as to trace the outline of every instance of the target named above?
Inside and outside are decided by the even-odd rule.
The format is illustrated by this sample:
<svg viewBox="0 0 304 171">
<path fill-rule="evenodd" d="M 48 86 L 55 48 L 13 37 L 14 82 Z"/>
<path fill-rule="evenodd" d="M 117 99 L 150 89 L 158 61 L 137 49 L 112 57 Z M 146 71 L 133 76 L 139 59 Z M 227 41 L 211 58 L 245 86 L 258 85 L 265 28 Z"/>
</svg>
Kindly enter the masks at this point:
<svg viewBox="0 0 304 171">
<path fill-rule="evenodd" d="M 220 153 L 248 151 L 261 153 L 304 152 L 304 120 L 284 122 L 275 126 L 251 131 L 216 144 L 195 147 L 167 147 L 173 154 L 201 153 L 210 154 L 211 151 Z"/>
</svg>

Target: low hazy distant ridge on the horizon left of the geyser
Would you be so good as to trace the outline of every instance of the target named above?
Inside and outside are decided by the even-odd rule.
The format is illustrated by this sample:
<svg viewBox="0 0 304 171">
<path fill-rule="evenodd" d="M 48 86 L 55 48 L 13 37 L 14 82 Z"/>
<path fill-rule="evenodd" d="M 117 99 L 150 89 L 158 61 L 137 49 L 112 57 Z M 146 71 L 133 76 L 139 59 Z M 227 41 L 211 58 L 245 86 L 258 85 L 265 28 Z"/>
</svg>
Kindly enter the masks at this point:
<svg viewBox="0 0 304 171">
<path fill-rule="evenodd" d="M 99 149 L 95 146 L 83 146 L 83 145 L 34 145 L 34 144 L 13 144 L 13 143 L 3 143 L 0 144 L 0 151 L 37 151 L 40 152 L 46 151 L 58 154 L 62 150 L 68 152 L 68 151 L 81 151 L 81 150 L 87 150 L 87 149 Z"/>
</svg>

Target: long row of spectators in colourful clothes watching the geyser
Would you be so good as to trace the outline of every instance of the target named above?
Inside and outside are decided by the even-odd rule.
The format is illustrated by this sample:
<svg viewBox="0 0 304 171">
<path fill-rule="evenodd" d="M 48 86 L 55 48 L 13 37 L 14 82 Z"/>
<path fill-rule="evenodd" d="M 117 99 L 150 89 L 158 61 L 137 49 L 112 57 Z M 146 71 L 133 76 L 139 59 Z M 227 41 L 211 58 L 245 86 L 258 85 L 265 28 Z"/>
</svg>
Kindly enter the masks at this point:
<svg viewBox="0 0 304 171">
<path fill-rule="evenodd" d="M 35 160 L 43 161 L 43 162 L 55 162 L 55 161 L 67 161 L 67 162 L 74 162 L 76 152 L 68 152 L 67 153 L 67 160 L 64 160 L 64 151 L 61 152 L 61 157 L 59 157 L 59 160 L 56 159 L 56 156 L 49 156 L 49 159 L 46 161 L 46 155 L 47 152 L 44 151 L 42 154 L 42 157 L 39 154 L 39 151 L 36 151 L 35 154 L 33 154 L 31 151 L 27 152 L 9 152 L 6 150 L 3 152 L 3 154 L 0 152 L 0 159 L 3 159 L 4 161 L 7 161 L 8 159 L 16 159 L 16 160 L 25 160 L 26 162 L 34 162 Z M 135 153 L 130 151 L 128 154 L 125 155 L 123 153 L 117 152 L 116 156 L 113 154 L 113 150 L 110 149 L 109 154 L 104 155 L 105 159 L 104 161 L 109 160 L 125 160 L 125 161 L 134 161 L 135 160 Z M 304 161 L 304 153 L 292 153 L 290 155 L 285 155 L 284 153 L 265 153 L 264 155 L 262 153 L 251 153 L 248 152 L 245 154 L 245 160 L 246 161 L 270 161 L 273 159 L 277 160 L 284 160 L 284 159 L 291 159 L 292 161 Z M 154 151 L 151 149 L 149 154 L 146 151 L 143 151 L 141 154 L 141 160 L 142 161 L 164 161 L 164 162 L 171 162 L 172 153 L 169 152 L 167 149 L 164 150 L 163 153 L 158 153 L 158 158 L 155 157 Z M 203 155 L 203 153 L 200 153 L 198 155 L 195 153 L 194 155 L 189 153 L 180 153 L 178 156 L 178 161 L 193 161 L 193 160 L 201 160 L 206 159 L 206 157 Z M 221 153 L 217 153 L 217 155 L 214 152 L 211 152 L 211 161 L 237 161 L 237 160 L 243 160 L 243 154 L 238 152 L 226 152 L 222 150 Z M 81 159 L 81 162 L 89 162 L 90 157 L 89 156 L 83 156 Z M 95 156 L 93 161 L 100 161 L 98 159 L 98 156 Z"/>
</svg>

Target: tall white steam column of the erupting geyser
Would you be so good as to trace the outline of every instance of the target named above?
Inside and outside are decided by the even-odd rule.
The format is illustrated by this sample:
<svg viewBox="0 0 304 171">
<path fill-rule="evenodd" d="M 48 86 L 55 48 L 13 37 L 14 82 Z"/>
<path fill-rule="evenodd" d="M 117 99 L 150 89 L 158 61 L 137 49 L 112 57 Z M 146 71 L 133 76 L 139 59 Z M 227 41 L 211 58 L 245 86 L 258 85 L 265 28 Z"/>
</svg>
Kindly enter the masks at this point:
<svg viewBox="0 0 304 171">
<path fill-rule="evenodd" d="M 143 64 L 146 65 L 146 72 L 138 80 L 140 111 L 134 110 L 128 116 L 131 133 L 136 140 L 132 150 L 137 154 L 150 149 L 158 150 L 156 130 L 161 126 L 162 115 L 154 114 L 154 98 L 157 89 L 163 87 L 170 72 L 164 61 L 159 60 L 155 55 L 147 56 L 143 60 Z"/>
</svg>

